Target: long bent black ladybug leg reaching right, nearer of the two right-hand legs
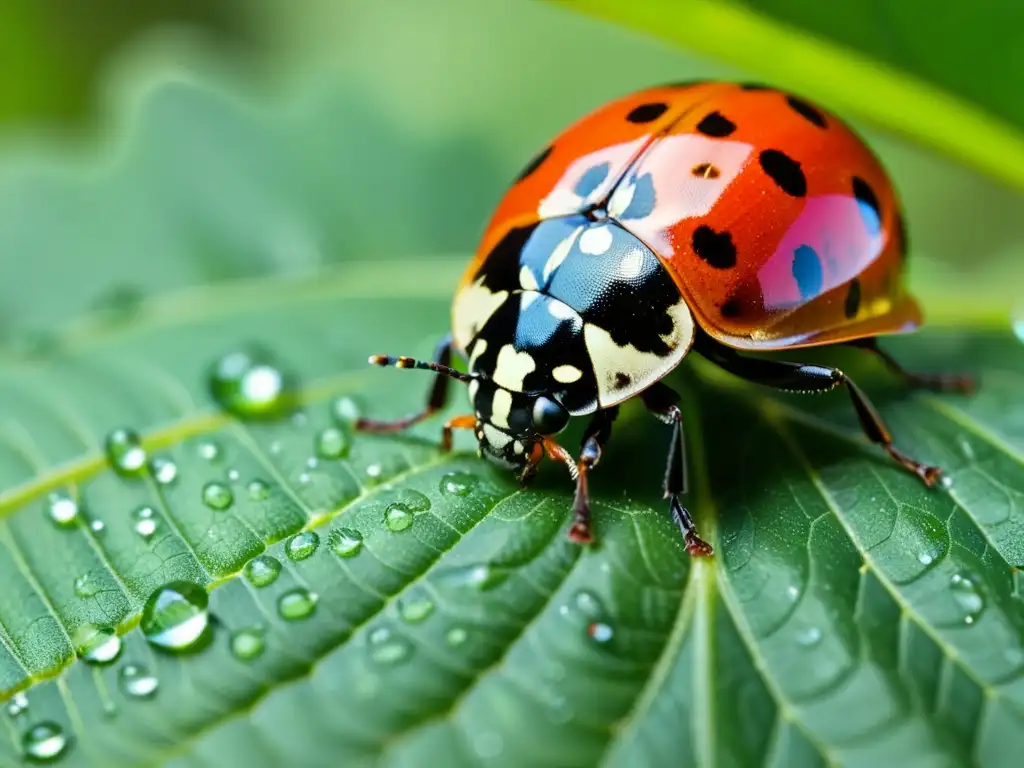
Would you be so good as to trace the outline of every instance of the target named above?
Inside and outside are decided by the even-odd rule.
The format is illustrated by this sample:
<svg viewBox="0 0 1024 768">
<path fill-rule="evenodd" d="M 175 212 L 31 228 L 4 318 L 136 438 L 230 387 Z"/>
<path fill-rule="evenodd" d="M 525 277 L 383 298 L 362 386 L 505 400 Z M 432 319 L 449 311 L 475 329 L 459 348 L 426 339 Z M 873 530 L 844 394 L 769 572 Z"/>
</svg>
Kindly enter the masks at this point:
<svg viewBox="0 0 1024 768">
<path fill-rule="evenodd" d="M 877 442 L 908 472 L 912 472 L 931 487 L 942 474 L 938 467 L 910 458 L 893 445 L 893 438 L 879 412 L 853 380 L 838 368 L 809 366 L 801 362 L 742 357 L 732 349 L 712 342 L 698 341 L 697 351 L 729 373 L 757 384 L 784 389 L 792 392 L 827 392 L 841 385 L 846 386 L 857 412 L 864 434 Z"/>
</svg>

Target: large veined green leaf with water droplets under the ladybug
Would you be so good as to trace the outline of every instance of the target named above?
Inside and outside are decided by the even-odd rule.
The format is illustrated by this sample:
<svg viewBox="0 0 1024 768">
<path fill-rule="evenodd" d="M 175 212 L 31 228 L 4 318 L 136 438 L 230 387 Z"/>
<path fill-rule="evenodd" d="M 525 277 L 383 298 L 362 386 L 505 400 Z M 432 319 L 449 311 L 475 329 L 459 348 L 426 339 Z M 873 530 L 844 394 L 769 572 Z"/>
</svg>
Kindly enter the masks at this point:
<svg viewBox="0 0 1024 768">
<path fill-rule="evenodd" d="M 409 436 L 344 426 L 353 402 L 422 404 L 425 374 L 366 357 L 428 356 L 446 329 L 465 258 L 409 254 L 477 225 L 486 150 L 414 139 L 346 91 L 272 120 L 193 84 L 147 93 L 116 166 L 0 172 L 0 245 L 22 256 L 0 285 L 0 762 L 61 738 L 74 766 L 997 765 L 1021 745 L 1009 326 L 945 304 L 888 344 L 979 373 L 970 398 L 902 391 L 853 350 L 799 355 L 851 373 L 950 488 L 892 466 L 842 392 L 775 394 L 694 358 L 672 383 L 717 556 L 683 551 L 668 435 L 636 403 L 594 473 L 599 545 L 581 549 L 561 467 L 520 489 L 466 435 L 438 451 L 464 392 Z M 467 152 L 477 186 L 397 184 Z M 301 416 L 218 408 L 212 367 L 252 345 Z M 152 472 L 106 462 L 119 428 Z M 175 581 L 205 587 L 214 617 L 180 655 L 143 635 L 166 643 L 166 621 L 141 620 Z M 296 590 L 316 594 L 304 617 Z M 117 658 L 78 659 L 111 654 L 105 628 Z"/>
</svg>

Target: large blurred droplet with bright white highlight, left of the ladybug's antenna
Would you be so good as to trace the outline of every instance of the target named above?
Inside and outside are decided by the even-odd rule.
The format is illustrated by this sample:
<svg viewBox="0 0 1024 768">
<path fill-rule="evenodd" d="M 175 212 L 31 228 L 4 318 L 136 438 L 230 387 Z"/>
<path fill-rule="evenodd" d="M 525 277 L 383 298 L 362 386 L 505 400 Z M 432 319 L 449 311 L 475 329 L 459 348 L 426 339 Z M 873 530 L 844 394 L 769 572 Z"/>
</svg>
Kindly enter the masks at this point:
<svg viewBox="0 0 1024 768">
<path fill-rule="evenodd" d="M 264 349 L 229 352 L 214 365 L 210 394 L 242 418 L 280 417 L 295 404 L 295 380 Z"/>
</svg>

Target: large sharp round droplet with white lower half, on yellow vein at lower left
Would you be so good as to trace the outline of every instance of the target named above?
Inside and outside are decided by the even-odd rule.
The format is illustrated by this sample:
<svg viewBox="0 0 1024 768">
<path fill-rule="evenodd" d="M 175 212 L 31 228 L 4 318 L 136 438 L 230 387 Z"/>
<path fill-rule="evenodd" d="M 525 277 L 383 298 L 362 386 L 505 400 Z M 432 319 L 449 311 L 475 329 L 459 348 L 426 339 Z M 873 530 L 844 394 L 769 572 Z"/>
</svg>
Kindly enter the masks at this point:
<svg viewBox="0 0 1024 768">
<path fill-rule="evenodd" d="M 142 608 L 140 626 L 151 645 L 183 653 L 200 645 L 210 626 L 210 596 L 191 582 L 170 582 L 157 589 Z"/>
</svg>

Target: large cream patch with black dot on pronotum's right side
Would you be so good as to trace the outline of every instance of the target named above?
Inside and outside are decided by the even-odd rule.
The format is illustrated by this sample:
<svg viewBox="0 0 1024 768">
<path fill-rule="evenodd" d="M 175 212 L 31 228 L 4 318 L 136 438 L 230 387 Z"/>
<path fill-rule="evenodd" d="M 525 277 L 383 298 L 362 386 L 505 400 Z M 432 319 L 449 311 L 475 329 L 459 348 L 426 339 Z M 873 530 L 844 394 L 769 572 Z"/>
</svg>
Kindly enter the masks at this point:
<svg viewBox="0 0 1024 768">
<path fill-rule="evenodd" d="M 679 365 L 693 343 L 693 315 L 682 299 L 669 308 L 672 331 L 662 339 L 669 346 L 669 354 L 659 357 L 653 352 L 641 352 L 632 344 L 620 346 L 611 334 L 600 326 L 584 326 L 587 351 L 597 375 L 597 399 L 601 408 L 622 402 L 643 391 L 669 371 Z M 629 381 L 622 382 L 617 374 L 626 374 Z"/>
</svg>

